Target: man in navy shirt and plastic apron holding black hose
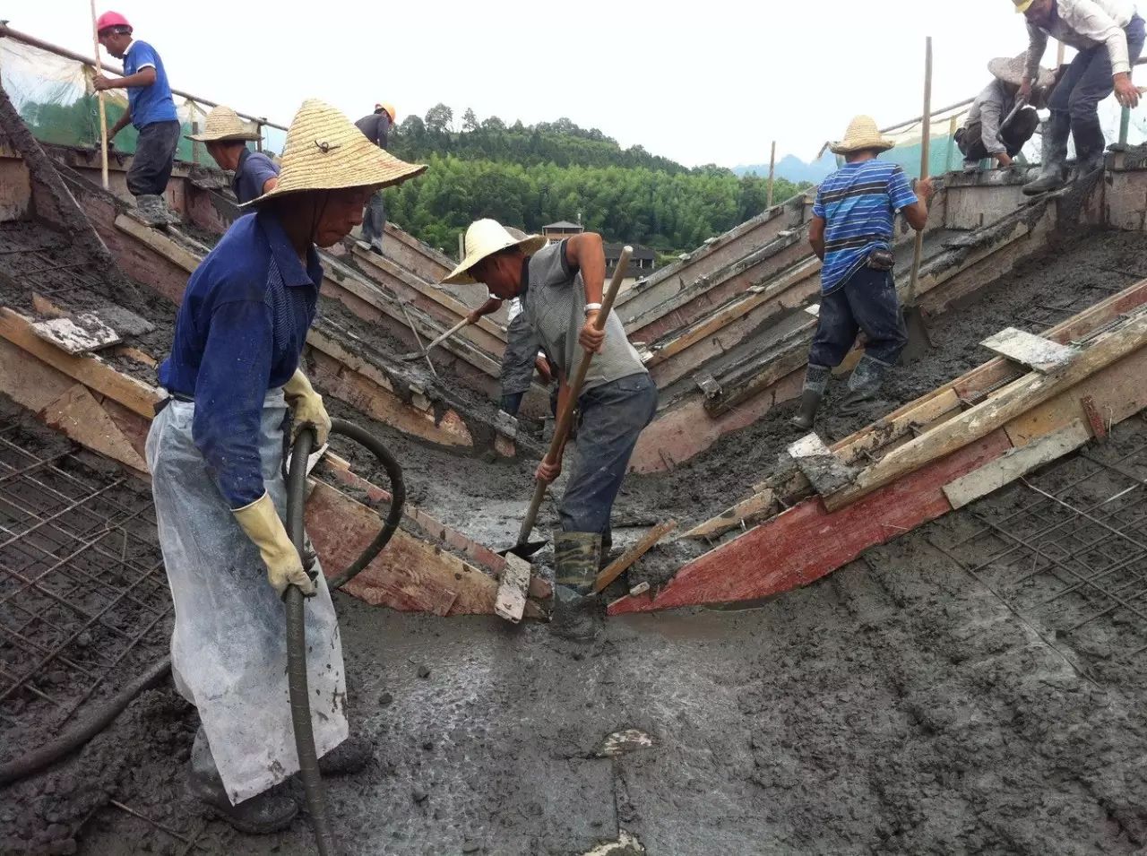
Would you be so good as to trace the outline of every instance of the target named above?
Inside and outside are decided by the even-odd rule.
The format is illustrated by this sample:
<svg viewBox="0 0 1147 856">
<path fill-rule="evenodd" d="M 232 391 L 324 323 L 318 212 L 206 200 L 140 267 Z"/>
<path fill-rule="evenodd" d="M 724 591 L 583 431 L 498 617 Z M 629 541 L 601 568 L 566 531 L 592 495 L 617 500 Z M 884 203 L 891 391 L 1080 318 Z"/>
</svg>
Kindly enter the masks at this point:
<svg viewBox="0 0 1147 856">
<path fill-rule="evenodd" d="M 236 828 L 283 828 L 297 811 L 279 786 L 298 770 L 286 683 L 288 586 L 306 607 L 314 741 L 326 775 L 352 772 L 369 740 L 348 739 L 338 622 L 318 561 L 304 567 L 283 523 L 284 422 L 330 420 L 301 371 L 322 282 L 315 247 L 350 234 L 381 187 L 416 176 L 350 120 L 307 101 L 287 133 L 282 172 L 187 282 L 169 392 L 147 438 L 159 546 L 175 606 L 171 668 L 202 723 L 190 792 Z M 311 573 L 315 571 L 312 578 Z"/>
</svg>

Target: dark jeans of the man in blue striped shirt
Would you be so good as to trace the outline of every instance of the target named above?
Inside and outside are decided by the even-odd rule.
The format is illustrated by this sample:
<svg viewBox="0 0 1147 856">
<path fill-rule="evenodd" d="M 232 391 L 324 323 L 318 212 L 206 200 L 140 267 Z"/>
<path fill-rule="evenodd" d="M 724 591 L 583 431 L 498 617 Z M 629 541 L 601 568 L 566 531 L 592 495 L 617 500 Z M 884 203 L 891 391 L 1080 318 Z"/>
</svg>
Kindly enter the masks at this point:
<svg viewBox="0 0 1147 856">
<path fill-rule="evenodd" d="M 809 363 L 838 366 L 864 330 L 865 353 L 892 365 L 907 344 L 908 333 L 896 296 L 891 271 L 860 267 L 829 294 L 820 296 L 820 320 L 809 350 Z"/>
</svg>

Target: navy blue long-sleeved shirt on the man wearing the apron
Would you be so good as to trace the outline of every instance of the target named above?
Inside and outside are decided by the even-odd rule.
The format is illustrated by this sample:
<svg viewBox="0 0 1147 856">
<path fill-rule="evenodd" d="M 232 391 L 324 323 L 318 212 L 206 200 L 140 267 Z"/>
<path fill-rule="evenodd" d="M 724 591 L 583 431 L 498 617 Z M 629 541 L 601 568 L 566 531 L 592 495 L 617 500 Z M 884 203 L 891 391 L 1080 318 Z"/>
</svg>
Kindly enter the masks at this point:
<svg viewBox="0 0 1147 856">
<path fill-rule="evenodd" d="M 159 384 L 195 398 L 192 438 L 232 508 L 264 493 L 263 399 L 295 374 L 321 283 L 314 248 L 304 267 L 265 211 L 235 220 L 187 281 Z"/>
</svg>

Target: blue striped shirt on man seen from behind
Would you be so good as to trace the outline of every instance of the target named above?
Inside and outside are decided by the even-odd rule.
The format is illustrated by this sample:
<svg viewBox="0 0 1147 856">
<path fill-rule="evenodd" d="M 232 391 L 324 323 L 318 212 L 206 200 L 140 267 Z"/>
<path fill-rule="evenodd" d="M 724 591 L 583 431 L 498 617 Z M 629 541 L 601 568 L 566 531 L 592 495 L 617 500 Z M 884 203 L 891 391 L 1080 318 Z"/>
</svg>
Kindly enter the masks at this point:
<svg viewBox="0 0 1147 856">
<path fill-rule="evenodd" d="M 844 285 L 873 250 L 890 249 L 892 217 L 915 202 L 904 170 L 887 161 L 844 164 L 826 178 L 812 207 L 813 217 L 826 221 L 821 290 Z"/>
</svg>

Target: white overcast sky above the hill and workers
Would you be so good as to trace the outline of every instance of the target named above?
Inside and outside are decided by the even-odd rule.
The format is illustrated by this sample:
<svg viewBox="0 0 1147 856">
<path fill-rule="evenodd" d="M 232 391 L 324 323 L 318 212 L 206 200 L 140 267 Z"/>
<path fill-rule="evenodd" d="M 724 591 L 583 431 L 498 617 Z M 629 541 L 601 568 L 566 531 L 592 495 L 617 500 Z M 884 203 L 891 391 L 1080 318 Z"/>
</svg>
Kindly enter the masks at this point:
<svg viewBox="0 0 1147 856">
<path fill-rule="evenodd" d="M 97 9 L 109 8 L 97 0 Z M 811 159 L 858 112 L 920 114 L 975 95 L 993 56 L 1027 46 L 1012 0 L 818 2 L 259 2 L 114 0 L 172 85 L 289 123 L 319 96 L 352 119 L 442 101 L 455 123 L 567 116 L 694 166 Z M 9 25 L 91 54 L 88 0 L 0 0 Z M 1054 62 L 1054 42 L 1045 64 Z M 107 59 L 107 57 L 104 57 Z"/>
</svg>

